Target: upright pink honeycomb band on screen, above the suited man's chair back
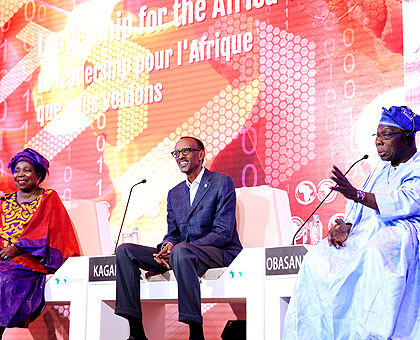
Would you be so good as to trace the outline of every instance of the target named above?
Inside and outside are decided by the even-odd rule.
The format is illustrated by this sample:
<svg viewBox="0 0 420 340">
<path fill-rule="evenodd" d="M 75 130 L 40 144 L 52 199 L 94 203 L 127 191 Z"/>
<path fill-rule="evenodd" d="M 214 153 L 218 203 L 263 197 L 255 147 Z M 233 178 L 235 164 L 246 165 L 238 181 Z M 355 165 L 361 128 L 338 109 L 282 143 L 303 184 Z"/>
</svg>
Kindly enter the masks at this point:
<svg viewBox="0 0 420 340">
<path fill-rule="evenodd" d="M 315 43 L 265 22 L 258 37 L 261 89 L 250 123 L 266 120 L 265 174 L 278 187 L 315 159 Z"/>
</svg>

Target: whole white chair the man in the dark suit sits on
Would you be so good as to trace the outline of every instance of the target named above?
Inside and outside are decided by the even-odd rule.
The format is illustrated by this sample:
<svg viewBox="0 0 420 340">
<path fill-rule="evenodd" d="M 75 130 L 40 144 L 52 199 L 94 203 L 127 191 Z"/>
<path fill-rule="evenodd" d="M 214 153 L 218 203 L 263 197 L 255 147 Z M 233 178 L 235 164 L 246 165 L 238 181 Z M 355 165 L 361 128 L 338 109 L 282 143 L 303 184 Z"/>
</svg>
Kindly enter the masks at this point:
<svg viewBox="0 0 420 340">
<path fill-rule="evenodd" d="M 265 339 L 265 248 L 292 239 L 287 193 L 268 186 L 237 192 L 238 232 L 244 249 L 227 268 L 201 278 L 203 302 L 246 302 L 247 337 Z M 128 336 L 128 324 L 113 314 L 115 281 L 89 282 L 86 339 Z M 141 282 L 143 321 L 150 340 L 164 339 L 165 303 L 176 302 L 177 284 L 169 271 Z"/>
</svg>

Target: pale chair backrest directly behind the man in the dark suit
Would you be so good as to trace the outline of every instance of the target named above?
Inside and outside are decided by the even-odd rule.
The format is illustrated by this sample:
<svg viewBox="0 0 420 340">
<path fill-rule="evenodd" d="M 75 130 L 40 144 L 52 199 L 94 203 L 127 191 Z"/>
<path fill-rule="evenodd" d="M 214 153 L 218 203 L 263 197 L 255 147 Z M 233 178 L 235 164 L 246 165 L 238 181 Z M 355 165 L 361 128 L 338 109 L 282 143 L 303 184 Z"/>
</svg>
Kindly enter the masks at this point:
<svg viewBox="0 0 420 340">
<path fill-rule="evenodd" d="M 242 246 L 290 244 L 294 224 L 287 192 L 267 185 L 236 189 L 236 220 Z"/>
</svg>

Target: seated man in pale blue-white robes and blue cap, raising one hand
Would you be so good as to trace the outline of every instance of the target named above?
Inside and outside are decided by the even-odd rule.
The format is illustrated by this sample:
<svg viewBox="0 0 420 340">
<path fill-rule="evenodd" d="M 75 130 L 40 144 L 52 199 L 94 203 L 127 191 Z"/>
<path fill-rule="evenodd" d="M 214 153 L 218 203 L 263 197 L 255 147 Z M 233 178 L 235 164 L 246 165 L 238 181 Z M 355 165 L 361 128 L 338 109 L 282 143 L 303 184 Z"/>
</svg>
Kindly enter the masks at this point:
<svg viewBox="0 0 420 340">
<path fill-rule="evenodd" d="M 345 221 L 305 257 L 283 339 L 420 339 L 420 117 L 383 108 L 376 133 L 386 161 L 358 190 L 334 166 Z"/>
</svg>

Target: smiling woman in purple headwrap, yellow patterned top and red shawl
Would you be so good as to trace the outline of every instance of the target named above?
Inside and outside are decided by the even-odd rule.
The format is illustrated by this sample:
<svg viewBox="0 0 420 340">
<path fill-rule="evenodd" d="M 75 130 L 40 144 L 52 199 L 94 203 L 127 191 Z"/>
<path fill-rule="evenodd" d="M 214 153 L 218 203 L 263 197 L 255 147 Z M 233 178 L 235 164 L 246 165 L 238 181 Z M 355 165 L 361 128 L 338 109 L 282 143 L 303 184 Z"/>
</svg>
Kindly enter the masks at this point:
<svg viewBox="0 0 420 340">
<path fill-rule="evenodd" d="M 58 194 L 39 185 L 49 162 L 32 149 L 9 163 L 19 189 L 0 199 L 0 339 L 7 327 L 27 327 L 45 307 L 46 274 L 79 255 Z"/>
</svg>

